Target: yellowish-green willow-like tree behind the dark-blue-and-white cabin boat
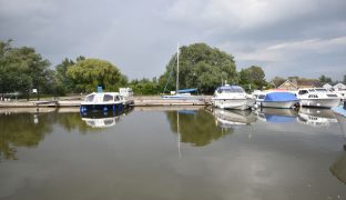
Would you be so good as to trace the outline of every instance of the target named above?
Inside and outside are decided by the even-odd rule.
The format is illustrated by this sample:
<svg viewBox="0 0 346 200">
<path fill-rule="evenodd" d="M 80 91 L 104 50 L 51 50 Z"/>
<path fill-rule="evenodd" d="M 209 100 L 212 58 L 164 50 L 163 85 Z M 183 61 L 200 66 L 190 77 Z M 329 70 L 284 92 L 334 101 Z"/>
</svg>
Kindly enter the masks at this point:
<svg viewBox="0 0 346 200">
<path fill-rule="evenodd" d="M 72 81 L 74 92 L 92 92 L 98 86 L 104 91 L 118 91 L 128 82 L 116 67 L 100 59 L 80 60 L 68 68 L 67 77 Z"/>
</svg>

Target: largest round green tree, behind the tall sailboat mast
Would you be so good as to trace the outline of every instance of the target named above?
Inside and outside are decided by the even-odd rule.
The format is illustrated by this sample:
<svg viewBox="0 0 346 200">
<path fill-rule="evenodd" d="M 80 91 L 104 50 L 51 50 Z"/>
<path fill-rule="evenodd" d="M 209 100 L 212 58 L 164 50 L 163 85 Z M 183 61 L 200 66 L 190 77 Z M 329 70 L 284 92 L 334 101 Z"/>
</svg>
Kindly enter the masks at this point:
<svg viewBox="0 0 346 200">
<path fill-rule="evenodd" d="M 161 91 L 163 91 L 171 72 L 172 78 L 166 91 L 175 90 L 176 53 L 169 61 L 164 74 L 160 77 Z M 180 48 L 179 77 L 180 89 L 199 88 L 202 93 L 213 93 L 222 80 L 227 80 L 228 83 L 238 82 L 233 56 L 205 43 Z"/>
</svg>

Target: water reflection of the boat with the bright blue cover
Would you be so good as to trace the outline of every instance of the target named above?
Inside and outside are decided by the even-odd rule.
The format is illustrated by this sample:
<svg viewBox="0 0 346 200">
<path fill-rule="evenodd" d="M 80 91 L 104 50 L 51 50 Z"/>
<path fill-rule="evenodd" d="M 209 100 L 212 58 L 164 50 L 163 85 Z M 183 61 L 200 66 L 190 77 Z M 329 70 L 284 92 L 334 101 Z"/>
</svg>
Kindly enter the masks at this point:
<svg viewBox="0 0 346 200">
<path fill-rule="evenodd" d="M 295 109 L 275 109 L 262 108 L 255 111 L 257 118 L 271 123 L 289 123 L 294 122 L 298 116 Z"/>
</svg>

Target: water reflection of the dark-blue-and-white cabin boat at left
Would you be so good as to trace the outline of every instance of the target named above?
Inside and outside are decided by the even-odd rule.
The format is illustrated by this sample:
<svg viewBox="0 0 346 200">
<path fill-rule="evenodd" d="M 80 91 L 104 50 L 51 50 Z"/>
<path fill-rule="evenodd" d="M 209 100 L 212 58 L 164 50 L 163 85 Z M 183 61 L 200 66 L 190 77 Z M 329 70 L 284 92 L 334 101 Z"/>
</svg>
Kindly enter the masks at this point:
<svg viewBox="0 0 346 200">
<path fill-rule="evenodd" d="M 83 113 L 82 120 L 91 128 L 110 128 L 119 123 L 128 112 L 90 112 Z"/>
</svg>

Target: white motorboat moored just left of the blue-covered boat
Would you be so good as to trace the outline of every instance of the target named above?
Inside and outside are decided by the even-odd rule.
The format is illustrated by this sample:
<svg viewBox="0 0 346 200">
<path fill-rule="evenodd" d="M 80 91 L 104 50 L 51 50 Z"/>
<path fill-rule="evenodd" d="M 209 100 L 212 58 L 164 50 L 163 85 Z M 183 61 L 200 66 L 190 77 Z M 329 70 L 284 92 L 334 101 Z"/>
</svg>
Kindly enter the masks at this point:
<svg viewBox="0 0 346 200">
<path fill-rule="evenodd" d="M 254 106 L 255 98 L 240 86 L 224 84 L 215 90 L 212 103 L 221 109 L 246 110 Z"/>
</svg>

